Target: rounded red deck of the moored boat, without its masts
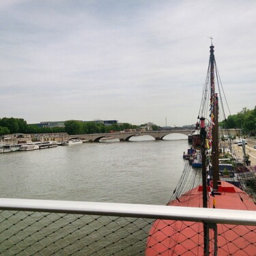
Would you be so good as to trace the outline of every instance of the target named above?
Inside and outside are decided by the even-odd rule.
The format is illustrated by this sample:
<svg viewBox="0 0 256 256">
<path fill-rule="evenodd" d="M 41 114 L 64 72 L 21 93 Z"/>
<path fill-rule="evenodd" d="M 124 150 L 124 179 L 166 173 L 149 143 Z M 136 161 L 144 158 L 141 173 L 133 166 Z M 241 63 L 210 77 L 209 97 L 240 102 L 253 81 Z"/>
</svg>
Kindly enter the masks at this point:
<svg viewBox="0 0 256 256">
<path fill-rule="evenodd" d="M 253 210 L 256 205 L 244 191 L 221 182 L 219 194 L 210 196 L 208 207 Z M 242 198 L 242 200 L 240 199 Z M 214 202 L 215 200 L 215 202 Z M 168 205 L 202 207 L 202 187 L 197 186 Z M 217 225 L 218 255 L 253 255 L 256 251 L 256 227 Z M 210 229 L 210 255 L 214 251 L 214 229 Z M 156 220 L 147 238 L 145 255 L 203 255 L 203 223 Z"/>
</svg>

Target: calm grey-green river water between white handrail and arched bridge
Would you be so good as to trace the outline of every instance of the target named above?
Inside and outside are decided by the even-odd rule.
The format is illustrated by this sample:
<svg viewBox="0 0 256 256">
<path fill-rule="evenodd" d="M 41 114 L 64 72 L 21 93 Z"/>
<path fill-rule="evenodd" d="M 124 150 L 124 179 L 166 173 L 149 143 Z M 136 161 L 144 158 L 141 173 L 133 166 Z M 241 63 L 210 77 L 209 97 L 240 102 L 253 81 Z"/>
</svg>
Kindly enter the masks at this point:
<svg viewBox="0 0 256 256">
<path fill-rule="evenodd" d="M 165 205 L 188 140 L 182 134 L 149 139 L 0 154 L 0 197 Z"/>
</svg>

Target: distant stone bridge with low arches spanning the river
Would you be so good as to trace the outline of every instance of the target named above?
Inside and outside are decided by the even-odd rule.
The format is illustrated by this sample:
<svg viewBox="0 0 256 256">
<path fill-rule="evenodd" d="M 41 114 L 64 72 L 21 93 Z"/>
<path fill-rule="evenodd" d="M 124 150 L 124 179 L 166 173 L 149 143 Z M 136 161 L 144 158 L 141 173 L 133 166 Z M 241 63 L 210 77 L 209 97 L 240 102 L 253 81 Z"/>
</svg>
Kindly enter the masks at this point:
<svg viewBox="0 0 256 256">
<path fill-rule="evenodd" d="M 163 139 L 168 134 L 191 134 L 193 130 L 157 130 L 157 131 L 146 131 L 146 132 L 111 132 L 111 133 L 98 133 L 98 134 L 76 134 L 76 135 L 67 135 L 57 138 L 58 141 L 68 141 L 70 139 L 82 139 L 89 142 L 99 142 L 100 139 L 119 139 L 119 141 L 129 141 L 131 137 L 150 135 L 156 141 Z"/>
</svg>

